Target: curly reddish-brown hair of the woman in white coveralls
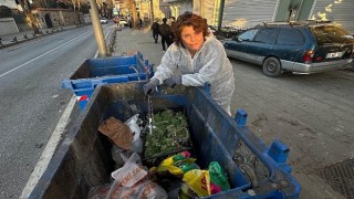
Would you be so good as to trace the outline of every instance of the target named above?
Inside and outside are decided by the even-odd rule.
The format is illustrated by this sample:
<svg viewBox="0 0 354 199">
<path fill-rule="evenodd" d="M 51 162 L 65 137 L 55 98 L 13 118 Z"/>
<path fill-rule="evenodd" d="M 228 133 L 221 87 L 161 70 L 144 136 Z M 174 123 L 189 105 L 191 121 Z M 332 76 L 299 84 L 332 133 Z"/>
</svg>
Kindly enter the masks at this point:
<svg viewBox="0 0 354 199">
<path fill-rule="evenodd" d="M 202 32 L 204 38 L 209 35 L 208 23 L 204 18 L 192 12 L 185 12 L 177 18 L 175 25 L 173 27 L 174 40 L 177 45 L 184 46 L 181 40 L 181 31 L 185 27 L 192 27 L 196 32 Z M 185 46 L 184 46 L 185 48 Z"/>
</svg>

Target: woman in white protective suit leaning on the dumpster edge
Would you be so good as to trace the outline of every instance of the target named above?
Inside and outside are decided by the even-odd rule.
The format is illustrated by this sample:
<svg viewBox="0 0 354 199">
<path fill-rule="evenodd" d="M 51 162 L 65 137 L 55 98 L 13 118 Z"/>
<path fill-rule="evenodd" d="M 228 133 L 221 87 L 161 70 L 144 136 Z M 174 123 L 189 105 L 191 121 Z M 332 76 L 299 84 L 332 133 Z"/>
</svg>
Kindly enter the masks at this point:
<svg viewBox="0 0 354 199">
<path fill-rule="evenodd" d="M 145 94 L 154 93 L 162 83 L 173 87 L 202 86 L 209 82 L 212 98 L 230 114 L 235 78 L 221 42 L 209 36 L 206 20 L 191 12 L 178 17 L 174 31 L 175 43 L 164 54 L 150 82 L 144 85 Z"/>
</svg>

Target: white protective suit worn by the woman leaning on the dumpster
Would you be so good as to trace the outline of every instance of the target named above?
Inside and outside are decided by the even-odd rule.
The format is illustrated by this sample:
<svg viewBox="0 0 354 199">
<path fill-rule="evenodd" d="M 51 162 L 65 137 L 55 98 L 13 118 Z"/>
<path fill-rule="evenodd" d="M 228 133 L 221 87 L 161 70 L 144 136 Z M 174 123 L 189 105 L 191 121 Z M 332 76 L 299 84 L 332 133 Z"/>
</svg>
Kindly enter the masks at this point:
<svg viewBox="0 0 354 199">
<path fill-rule="evenodd" d="M 219 40 L 206 36 L 206 41 L 192 59 L 187 49 L 173 43 L 164 54 L 162 63 L 156 67 L 153 78 L 158 78 L 159 84 L 163 84 L 177 70 L 183 74 L 184 86 L 202 86 L 209 82 L 212 98 L 230 114 L 235 90 L 233 71 Z"/>
</svg>

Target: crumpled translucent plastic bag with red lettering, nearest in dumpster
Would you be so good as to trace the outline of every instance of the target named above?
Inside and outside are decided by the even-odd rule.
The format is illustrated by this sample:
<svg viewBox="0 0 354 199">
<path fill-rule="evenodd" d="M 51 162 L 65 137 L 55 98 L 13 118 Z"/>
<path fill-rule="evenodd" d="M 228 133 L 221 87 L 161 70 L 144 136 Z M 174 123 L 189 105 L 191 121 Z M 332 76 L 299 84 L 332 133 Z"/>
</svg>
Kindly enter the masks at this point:
<svg viewBox="0 0 354 199">
<path fill-rule="evenodd" d="M 148 179 L 147 171 L 140 165 L 140 157 L 134 153 L 124 166 L 114 172 L 115 179 L 107 198 L 167 198 L 166 191 Z"/>
</svg>

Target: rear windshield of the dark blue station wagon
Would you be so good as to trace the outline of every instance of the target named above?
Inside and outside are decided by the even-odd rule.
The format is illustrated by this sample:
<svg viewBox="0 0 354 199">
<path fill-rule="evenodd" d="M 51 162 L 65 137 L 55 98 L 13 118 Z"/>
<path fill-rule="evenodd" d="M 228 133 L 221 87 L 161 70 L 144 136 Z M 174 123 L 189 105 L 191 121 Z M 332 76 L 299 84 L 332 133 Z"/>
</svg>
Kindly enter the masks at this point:
<svg viewBox="0 0 354 199">
<path fill-rule="evenodd" d="M 337 25 L 311 27 L 311 30 L 317 38 L 319 44 L 345 42 L 348 40 L 348 35 L 351 35 Z"/>
</svg>

